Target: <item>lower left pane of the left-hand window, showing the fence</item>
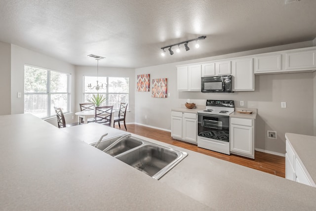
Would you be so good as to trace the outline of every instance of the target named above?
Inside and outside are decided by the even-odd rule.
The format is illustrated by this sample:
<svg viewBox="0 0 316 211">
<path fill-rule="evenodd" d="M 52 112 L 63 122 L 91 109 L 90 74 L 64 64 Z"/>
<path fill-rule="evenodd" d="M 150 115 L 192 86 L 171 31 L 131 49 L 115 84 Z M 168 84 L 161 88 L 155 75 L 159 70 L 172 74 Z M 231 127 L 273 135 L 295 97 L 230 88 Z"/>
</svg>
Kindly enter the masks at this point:
<svg viewBox="0 0 316 211">
<path fill-rule="evenodd" d="M 37 117 L 47 116 L 47 94 L 24 94 L 24 113 Z"/>
</svg>

